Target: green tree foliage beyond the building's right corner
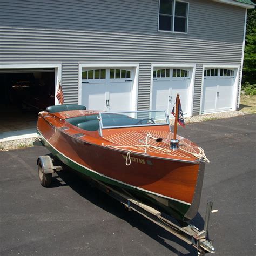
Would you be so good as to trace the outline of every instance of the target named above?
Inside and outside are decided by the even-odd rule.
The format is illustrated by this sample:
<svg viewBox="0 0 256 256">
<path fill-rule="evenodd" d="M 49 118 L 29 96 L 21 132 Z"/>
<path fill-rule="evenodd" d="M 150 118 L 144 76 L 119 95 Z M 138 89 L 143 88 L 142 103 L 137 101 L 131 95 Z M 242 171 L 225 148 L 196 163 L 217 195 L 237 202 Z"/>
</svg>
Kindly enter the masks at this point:
<svg viewBox="0 0 256 256">
<path fill-rule="evenodd" d="M 242 83 L 256 84 L 256 9 L 249 9 L 247 14 Z"/>
</svg>

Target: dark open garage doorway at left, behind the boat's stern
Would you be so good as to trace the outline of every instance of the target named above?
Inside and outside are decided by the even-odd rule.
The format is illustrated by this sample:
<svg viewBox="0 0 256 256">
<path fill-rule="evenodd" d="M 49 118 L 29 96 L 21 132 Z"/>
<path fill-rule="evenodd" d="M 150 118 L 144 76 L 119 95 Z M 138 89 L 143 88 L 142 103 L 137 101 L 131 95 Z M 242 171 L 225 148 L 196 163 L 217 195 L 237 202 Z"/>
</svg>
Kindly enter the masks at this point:
<svg viewBox="0 0 256 256">
<path fill-rule="evenodd" d="M 38 112 L 55 105 L 55 68 L 0 69 L 0 80 L 0 140 L 6 132 L 35 132 Z"/>
</svg>

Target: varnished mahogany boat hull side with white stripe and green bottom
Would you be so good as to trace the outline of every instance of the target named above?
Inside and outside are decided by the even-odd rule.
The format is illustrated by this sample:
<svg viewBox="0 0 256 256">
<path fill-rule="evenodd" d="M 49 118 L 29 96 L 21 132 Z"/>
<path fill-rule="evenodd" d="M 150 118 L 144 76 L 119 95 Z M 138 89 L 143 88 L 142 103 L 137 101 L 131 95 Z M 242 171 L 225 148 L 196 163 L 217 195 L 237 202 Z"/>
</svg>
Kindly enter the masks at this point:
<svg viewBox="0 0 256 256">
<path fill-rule="evenodd" d="M 176 219 L 189 220 L 197 213 L 203 162 L 153 158 L 131 152 L 132 163 L 127 166 L 126 152 L 70 136 L 44 118 L 38 119 L 37 130 L 49 151 L 72 169 L 122 188 Z"/>
</svg>

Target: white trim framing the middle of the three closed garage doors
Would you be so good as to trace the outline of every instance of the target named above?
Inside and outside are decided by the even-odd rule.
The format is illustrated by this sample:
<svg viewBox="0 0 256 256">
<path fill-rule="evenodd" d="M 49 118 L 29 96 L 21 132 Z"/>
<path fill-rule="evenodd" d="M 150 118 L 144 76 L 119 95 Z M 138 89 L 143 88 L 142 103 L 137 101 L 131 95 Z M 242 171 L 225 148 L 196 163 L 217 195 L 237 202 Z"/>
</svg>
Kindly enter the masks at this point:
<svg viewBox="0 0 256 256">
<path fill-rule="evenodd" d="M 196 73 L 196 64 L 187 64 L 187 63 L 152 63 L 151 64 L 151 79 L 150 79 L 150 110 L 152 110 L 152 100 L 153 100 L 153 71 L 154 68 L 192 68 L 190 85 L 188 87 L 188 111 L 186 117 L 191 117 L 193 115 L 193 101 L 194 101 L 194 78 Z M 171 73 L 171 72 L 170 72 Z M 171 79 L 171 77 L 170 77 Z M 182 103 L 181 103 L 182 104 Z"/>
</svg>

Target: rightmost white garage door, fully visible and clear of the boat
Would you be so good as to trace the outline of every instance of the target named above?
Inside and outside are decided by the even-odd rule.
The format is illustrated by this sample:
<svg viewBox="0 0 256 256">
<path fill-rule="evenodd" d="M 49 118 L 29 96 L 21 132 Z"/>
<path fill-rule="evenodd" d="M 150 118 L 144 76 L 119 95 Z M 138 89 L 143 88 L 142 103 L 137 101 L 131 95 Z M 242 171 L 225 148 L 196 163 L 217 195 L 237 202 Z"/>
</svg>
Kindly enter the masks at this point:
<svg viewBox="0 0 256 256">
<path fill-rule="evenodd" d="M 232 110 L 234 70 L 206 69 L 201 113 Z"/>
</svg>

